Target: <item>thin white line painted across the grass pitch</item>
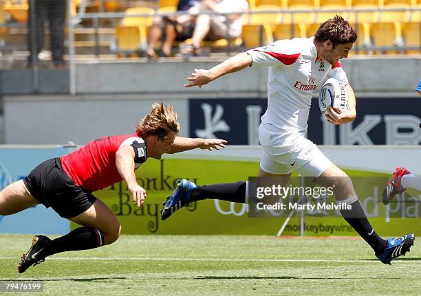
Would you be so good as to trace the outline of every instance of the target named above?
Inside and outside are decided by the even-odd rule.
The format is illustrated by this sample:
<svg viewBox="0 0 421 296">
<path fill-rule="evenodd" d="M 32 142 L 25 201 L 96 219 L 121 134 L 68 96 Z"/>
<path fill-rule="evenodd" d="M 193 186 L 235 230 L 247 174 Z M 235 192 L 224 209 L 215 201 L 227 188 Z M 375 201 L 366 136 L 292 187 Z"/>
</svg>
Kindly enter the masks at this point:
<svg viewBox="0 0 421 296">
<path fill-rule="evenodd" d="M 0 259 L 16 259 L 16 257 L 0 257 Z M 240 258 L 102 258 L 102 257 L 50 257 L 47 260 L 80 260 L 80 261 L 197 261 L 197 262 L 375 262 L 378 260 L 325 260 L 325 259 L 240 259 Z M 395 260 L 394 262 L 421 263 L 421 260 Z"/>
</svg>

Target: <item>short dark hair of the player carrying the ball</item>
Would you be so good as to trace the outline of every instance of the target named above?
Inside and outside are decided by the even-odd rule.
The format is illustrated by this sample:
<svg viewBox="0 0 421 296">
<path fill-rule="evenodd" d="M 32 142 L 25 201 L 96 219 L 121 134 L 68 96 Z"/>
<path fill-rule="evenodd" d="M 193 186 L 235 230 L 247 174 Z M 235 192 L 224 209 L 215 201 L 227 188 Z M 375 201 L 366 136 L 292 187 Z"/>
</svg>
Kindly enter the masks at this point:
<svg viewBox="0 0 421 296">
<path fill-rule="evenodd" d="M 356 32 L 351 25 L 341 16 L 336 15 L 322 23 L 314 34 L 316 42 L 332 41 L 333 45 L 354 43 L 356 41 Z"/>
</svg>

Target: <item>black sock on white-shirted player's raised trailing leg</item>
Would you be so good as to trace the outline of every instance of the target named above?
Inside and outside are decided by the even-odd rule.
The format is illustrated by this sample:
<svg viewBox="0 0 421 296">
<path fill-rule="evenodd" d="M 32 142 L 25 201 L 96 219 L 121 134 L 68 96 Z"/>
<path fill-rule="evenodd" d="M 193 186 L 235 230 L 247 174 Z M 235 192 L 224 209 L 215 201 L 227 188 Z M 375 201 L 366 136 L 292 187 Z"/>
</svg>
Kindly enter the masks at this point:
<svg viewBox="0 0 421 296">
<path fill-rule="evenodd" d="M 197 186 L 191 192 L 190 201 L 203 199 L 220 199 L 234 203 L 246 203 L 246 181 L 237 183 L 220 183 L 213 185 Z"/>
</svg>

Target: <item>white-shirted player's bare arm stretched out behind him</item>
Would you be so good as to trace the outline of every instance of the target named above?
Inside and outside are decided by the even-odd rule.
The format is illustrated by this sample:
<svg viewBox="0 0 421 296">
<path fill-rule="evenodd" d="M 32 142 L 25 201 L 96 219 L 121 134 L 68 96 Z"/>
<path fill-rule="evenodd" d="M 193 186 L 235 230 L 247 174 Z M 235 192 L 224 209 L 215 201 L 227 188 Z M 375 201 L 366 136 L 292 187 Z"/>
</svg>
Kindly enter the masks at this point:
<svg viewBox="0 0 421 296">
<path fill-rule="evenodd" d="M 190 83 L 184 84 L 184 87 L 202 87 L 202 85 L 208 84 L 210 81 L 213 81 L 220 76 L 240 71 L 251 64 L 251 56 L 242 52 L 241 54 L 228 58 L 228 60 L 225 60 L 210 70 L 195 69 L 193 73 L 191 73 L 191 77 L 187 78 Z"/>
</svg>

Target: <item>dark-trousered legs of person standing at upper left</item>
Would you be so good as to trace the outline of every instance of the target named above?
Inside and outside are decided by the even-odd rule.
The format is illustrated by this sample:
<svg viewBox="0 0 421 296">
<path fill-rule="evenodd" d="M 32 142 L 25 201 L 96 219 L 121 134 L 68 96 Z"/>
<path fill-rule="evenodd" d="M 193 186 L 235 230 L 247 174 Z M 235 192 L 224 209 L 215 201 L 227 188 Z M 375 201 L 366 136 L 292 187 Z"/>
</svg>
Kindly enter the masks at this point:
<svg viewBox="0 0 421 296">
<path fill-rule="evenodd" d="M 66 0 L 28 1 L 30 5 L 28 10 L 28 47 L 30 50 L 28 62 L 30 66 L 32 65 L 32 56 L 38 58 L 38 54 L 43 49 L 44 25 L 45 21 L 48 21 L 50 27 L 50 47 L 54 66 L 65 67 L 63 55 L 65 53 L 64 26 L 66 21 L 66 2 Z M 34 15 L 32 15 L 32 11 Z M 32 26 L 32 22 L 34 26 Z M 32 44 L 32 41 L 34 41 L 34 44 Z"/>
</svg>

